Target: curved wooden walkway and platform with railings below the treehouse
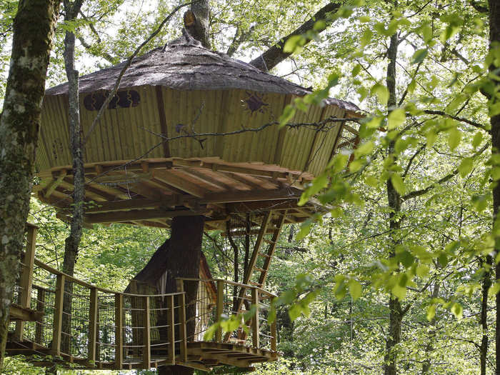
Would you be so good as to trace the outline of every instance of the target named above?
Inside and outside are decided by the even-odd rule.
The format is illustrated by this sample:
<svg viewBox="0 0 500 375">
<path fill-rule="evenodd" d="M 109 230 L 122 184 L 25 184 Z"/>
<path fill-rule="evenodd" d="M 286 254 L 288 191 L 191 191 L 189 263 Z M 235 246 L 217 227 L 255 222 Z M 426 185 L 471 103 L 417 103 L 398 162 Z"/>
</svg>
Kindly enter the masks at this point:
<svg viewBox="0 0 500 375">
<path fill-rule="evenodd" d="M 275 361 L 276 322 L 267 320 L 274 294 L 225 280 L 177 279 L 170 294 L 102 289 L 35 259 L 36 226 L 28 224 L 26 251 L 11 306 L 6 353 L 36 366 L 71 369 L 151 369 L 179 364 L 209 371 Z M 184 290 L 196 287 L 186 301 Z M 192 289 L 191 289 L 192 290 Z M 237 291 L 237 292 L 235 292 Z M 204 334 L 221 314 L 249 311 L 237 329 Z"/>
</svg>

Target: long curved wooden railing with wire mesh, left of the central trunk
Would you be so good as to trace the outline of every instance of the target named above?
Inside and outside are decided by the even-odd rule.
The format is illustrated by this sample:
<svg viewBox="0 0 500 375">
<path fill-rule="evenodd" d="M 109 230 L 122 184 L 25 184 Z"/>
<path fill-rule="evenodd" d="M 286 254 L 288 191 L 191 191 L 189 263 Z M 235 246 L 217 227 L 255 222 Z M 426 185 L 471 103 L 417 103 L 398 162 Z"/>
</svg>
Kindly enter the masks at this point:
<svg viewBox="0 0 500 375">
<path fill-rule="evenodd" d="M 129 294 L 99 288 L 34 258 L 29 226 L 14 303 L 38 311 L 13 321 L 14 341 L 36 354 L 101 369 L 150 369 L 186 362 L 184 293 Z M 66 302 L 66 310 L 64 301 Z"/>
</svg>

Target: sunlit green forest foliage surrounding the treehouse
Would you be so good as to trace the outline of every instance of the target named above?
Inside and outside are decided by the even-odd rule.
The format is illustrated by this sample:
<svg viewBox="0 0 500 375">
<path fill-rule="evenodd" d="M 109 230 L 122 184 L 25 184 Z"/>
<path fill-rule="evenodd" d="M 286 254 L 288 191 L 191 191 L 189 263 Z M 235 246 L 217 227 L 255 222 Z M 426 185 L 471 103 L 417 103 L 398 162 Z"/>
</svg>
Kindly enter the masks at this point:
<svg viewBox="0 0 500 375">
<path fill-rule="evenodd" d="M 281 121 L 328 94 L 358 104 L 366 118 L 352 124 L 353 156 L 336 156 L 304 194 L 334 209 L 281 236 L 267 288 L 281 294 L 284 356 L 256 373 L 492 373 L 500 290 L 492 194 L 500 157 L 491 152 L 500 114 L 500 54 L 490 44 L 496 1 L 331 4 L 323 21 L 288 39 L 294 55 L 271 71 L 315 89 Z M 250 61 L 331 4 L 211 1 L 211 48 Z M 47 86 L 66 81 L 65 31 L 79 40 L 84 74 L 126 59 L 176 5 L 84 1 L 76 20 L 57 26 Z M 17 6 L 0 1 L 4 72 Z M 181 16 L 143 52 L 179 36 Z M 5 86 L 6 74 L 0 96 Z M 61 268 L 69 228 L 36 199 L 29 221 L 40 226 L 37 257 Z M 85 229 L 75 274 L 122 290 L 168 236 L 123 225 Z M 206 233 L 203 250 L 215 278 L 234 279 L 224 236 Z M 3 371 L 44 370 L 7 359 Z"/>
</svg>

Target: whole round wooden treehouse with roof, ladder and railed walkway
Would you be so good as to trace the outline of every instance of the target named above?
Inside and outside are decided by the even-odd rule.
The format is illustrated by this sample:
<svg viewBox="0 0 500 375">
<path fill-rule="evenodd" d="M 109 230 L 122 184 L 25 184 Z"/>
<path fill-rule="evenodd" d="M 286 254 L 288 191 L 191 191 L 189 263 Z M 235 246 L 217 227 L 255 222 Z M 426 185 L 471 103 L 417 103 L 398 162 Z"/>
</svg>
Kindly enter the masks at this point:
<svg viewBox="0 0 500 375">
<path fill-rule="evenodd" d="M 39 267 L 49 274 L 48 286 L 21 288 L 21 307 L 35 309 L 26 314 L 38 320 L 23 331 L 20 319 L 8 352 L 48 352 L 85 369 L 173 364 L 251 369 L 255 362 L 276 359 L 276 322 L 267 322 L 268 315 L 259 311 L 269 308 L 274 297 L 262 287 L 279 233 L 284 224 L 324 209 L 314 201 L 304 206 L 297 201 L 336 151 L 351 148 L 357 139 L 356 129 L 344 121 L 314 124 L 358 116 L 359 109 L 326 99 L 321 106 L 297 111 L 290 122 L 301 126 L 280 129 L 285 106 L 311 91 L 209 51 L 184 32 L 131 62 L 93 126 L 125 64 L 79 81 L 81 137 L 86 140 L 84 224 L 169 228 L 171 236 L 124 292 L 96 288 L 33 261 L 32 238 L 21 279 L 31 283 L 29 275 Z M 40 183 L 34 188 L 63 220 L 70 219 L 74 189 L 67 91 L 67 84 L 46 91 L 36 154 Z M 211 278 L 201 254 L 203 232 L 210 230 L 228 237 L 254 235 L 241 282 Z M 70 298 L 84 300 L 72 309 L 86 306 L 83 312 L 66 312 L 75 329 L 69 333 L 61 332 L 60 323 L 65 282 L 78 291 Z M 39 294 L 31 296 L 31 290 Z M 30 305 L 30 296 L 36 303 Z M 47 296 L 55 299 L 50 309 L 44 307 Z M 219 327 L 214 339 L 204 341 L 221 314 L 248 312 L 251 306 L 256 313 L 241 318 L 238 330 L 223 333 Z M 81 326 L 79 316 L 85 317 Z M 51 321 L 53 329 L 44 336 Z M 61 347 L 64 335 L 71 343 Z M 82 335 L 88 339 L 82 341 Z"/>
</svg>

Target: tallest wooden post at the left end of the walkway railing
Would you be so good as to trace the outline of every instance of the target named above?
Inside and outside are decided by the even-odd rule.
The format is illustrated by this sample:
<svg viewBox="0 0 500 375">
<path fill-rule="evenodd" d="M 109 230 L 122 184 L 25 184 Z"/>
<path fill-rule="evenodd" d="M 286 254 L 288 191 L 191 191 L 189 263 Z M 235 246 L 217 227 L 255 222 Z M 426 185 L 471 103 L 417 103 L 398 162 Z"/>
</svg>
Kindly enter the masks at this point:
<svg viewBox="0 0 500 375">
<path fill-rule="evenodd" d="M 33 283 L 33 267 L 35 262 L 36 230 L 38 227 L 33 224 L 26 223 L 26 228 L 28 234 L 23 265 L 21 266 L 21 279 L 19 280 L 19 286 L 21 286 L 21 291 L 19 291 L 19 304 L 21 307 L 29 309 L 31 302 L 31 285 Z M 21 342 L 23 341 L 23 334 L 24 321 L 18 321 L 16 323 L 14 336 L 16 336 L 16 339 Z"/>
</svg>

